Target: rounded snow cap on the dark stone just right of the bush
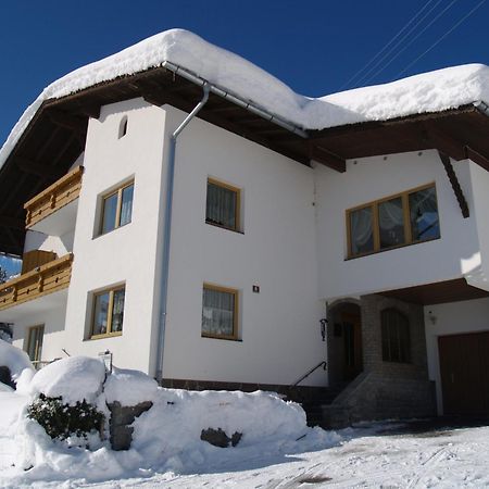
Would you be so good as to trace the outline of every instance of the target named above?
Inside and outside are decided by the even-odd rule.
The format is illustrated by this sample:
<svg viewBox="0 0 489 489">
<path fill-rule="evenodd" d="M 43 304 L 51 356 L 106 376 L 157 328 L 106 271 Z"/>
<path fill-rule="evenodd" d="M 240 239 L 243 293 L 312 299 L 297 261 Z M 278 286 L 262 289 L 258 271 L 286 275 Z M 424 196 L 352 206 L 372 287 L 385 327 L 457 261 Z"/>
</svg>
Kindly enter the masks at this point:
<svg viewBox="0 0 489 489">
<path fill-rule="evenodd" d="M 109 404 L 118 401 L 122 405 L 133 406 L 153 401 L 158 393 L 158 383 L 142 372 L 114 367 L 103 390 Z"/>
</svg>

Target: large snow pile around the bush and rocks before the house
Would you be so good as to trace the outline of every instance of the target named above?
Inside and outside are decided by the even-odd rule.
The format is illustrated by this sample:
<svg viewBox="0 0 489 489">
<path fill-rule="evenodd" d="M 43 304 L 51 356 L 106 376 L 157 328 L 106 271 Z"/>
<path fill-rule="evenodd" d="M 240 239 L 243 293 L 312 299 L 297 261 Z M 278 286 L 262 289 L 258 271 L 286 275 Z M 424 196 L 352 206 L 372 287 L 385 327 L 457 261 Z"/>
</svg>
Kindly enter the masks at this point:
<svg viewBox="0 0 489 489">
<path fill-rule="evenodd" d="M 300 405 L 285 402 L 274 393 L 163 389 L 141 372 L 118 368 L 103 385 L 103 364 L 87 358 L 58 361 L 38 372 L 30 383 L 32 399 L 39 392 L 61 396 L 65 402 L 90 399 L 108 418 L 106 403 L 135 405 L 151 400 L 152 406 L 133 423 L 131 448 L 120 452 L 111 450 L 108 439 L 98 443 L 89 440 L 91 451 L 70 440 L 52 440 L 26 416 L 25 406 L 15 441 L 16 469 L 10 479 L 14 486 L 47 477 L 97 482 L 150 477 L 161 472 L 196 473 L 236 464 L 256 454 L 284 456 L 331 447 L 342 440 L 336 432 L 309 428 Z M 228 437 L 235 432 L 242 437 L 237 447 L 217 448 L 201 440 L 202 430 L 208 428 L 222 429 Z"/>
</svg>

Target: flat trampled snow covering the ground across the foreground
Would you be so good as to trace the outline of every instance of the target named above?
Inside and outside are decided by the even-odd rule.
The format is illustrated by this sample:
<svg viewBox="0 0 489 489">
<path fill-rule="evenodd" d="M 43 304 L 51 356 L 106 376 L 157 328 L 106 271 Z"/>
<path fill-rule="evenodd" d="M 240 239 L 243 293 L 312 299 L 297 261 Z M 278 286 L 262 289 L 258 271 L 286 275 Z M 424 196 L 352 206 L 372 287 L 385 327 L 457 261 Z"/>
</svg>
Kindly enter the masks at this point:
<svg viewBox="0 0 489 489">
<path fill-rule="evenodd" d="M 59 447 L 64 473 L 46 469 L 20 473 L 15 463 L 13 429 L 26 398 L 0 392 L 0 487 L 2 488 L 460 488 L 489 485 L 487 453 L 489 427 L 444 429 L 397 435 L 392 424 L 373 424 L 338 431 L 335 441 L 326 431 L 311 430 L 278 451 L 261 447 L 220 449 L 210 447 L 205 465 L 187 473 L 162 469 L 127 471 L 124 453 L 106 449 L 97 460 L 71 456 Z M 317 434 L 324 434 L 324 437 Z M 329 434 L 331 436 L 331 434 Z M 127 454 L 126 454 L 127 455 Z M 78 459 L 78 461 L 76 461 Z M 71 464 L 84 476 L 70 476 Z M 84 465 L 85 464 L 85 465 Z M 105 477 L 93 469 L 105 464 Z M 35 477 L 33 477 L 35 475 Z"/>
</svg>

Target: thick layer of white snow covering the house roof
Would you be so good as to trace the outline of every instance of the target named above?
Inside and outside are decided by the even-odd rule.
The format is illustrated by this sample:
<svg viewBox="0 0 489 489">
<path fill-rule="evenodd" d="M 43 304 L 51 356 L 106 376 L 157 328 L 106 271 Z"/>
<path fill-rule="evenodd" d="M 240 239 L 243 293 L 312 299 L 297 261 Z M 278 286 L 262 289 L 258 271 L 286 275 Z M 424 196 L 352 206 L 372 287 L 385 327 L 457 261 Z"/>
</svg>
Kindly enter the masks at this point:
<svg viewBox="0 0 489 489">
<path fill-rule="evenodd" d="M 184 67 L 303 129 L 324 129 L 366 121 L 385 121 L 489 101 L 489 67 L 467 64 L 398 82 L 321 98 L 296 93 L 243 58 L 183 29 L 145 39 L 103 60 L 83 66 L 46 87 L 27 108 L 0 150 L 0 167 L 43 101 L 131 75 L 164 62 Z"/>
</svg>

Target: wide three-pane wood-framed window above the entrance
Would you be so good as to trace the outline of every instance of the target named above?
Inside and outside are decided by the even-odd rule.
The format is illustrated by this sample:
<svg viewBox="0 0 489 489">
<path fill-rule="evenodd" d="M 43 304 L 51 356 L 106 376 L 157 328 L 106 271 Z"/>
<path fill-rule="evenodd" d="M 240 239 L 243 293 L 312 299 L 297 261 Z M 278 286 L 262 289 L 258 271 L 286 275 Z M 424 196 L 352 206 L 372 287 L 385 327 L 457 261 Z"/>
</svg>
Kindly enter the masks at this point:
<svg viewBox="0 0 489 489">
<path fill-rule="evenodd" d="M 440 237 L 434 184 L 347 211 L 349 258 Z"/>
</svg>

